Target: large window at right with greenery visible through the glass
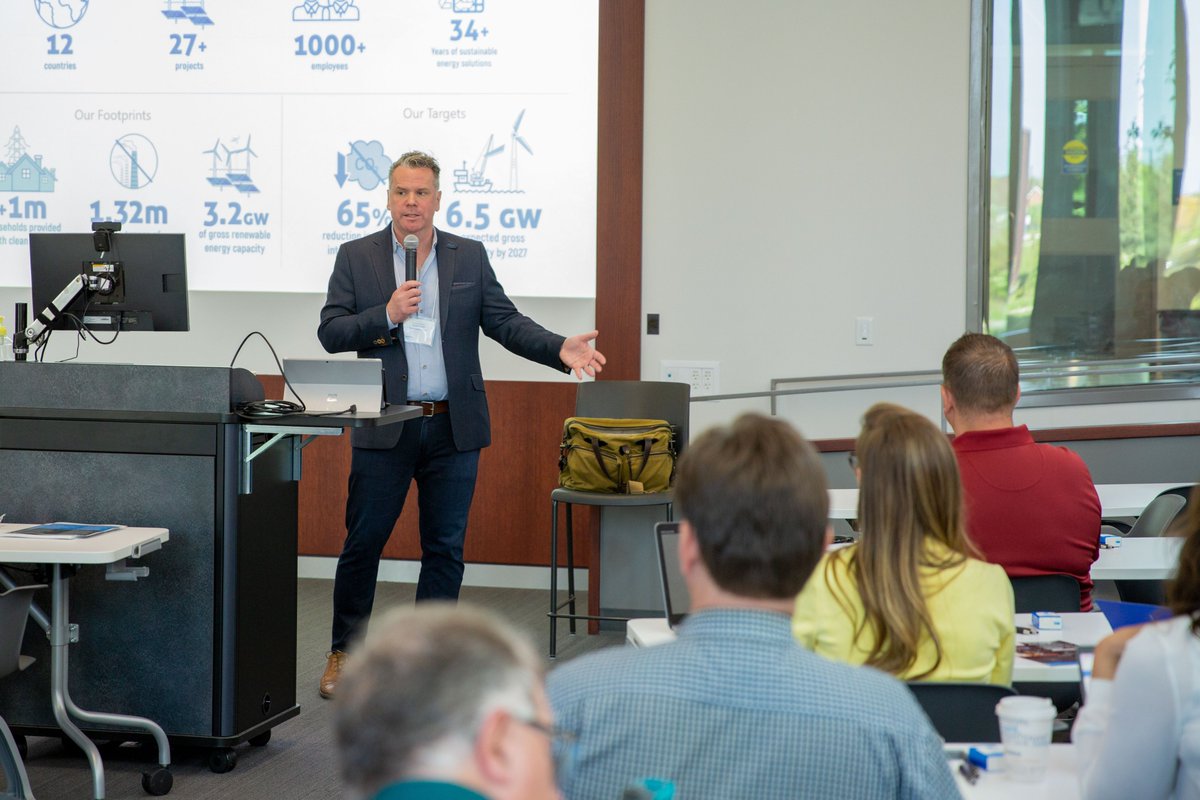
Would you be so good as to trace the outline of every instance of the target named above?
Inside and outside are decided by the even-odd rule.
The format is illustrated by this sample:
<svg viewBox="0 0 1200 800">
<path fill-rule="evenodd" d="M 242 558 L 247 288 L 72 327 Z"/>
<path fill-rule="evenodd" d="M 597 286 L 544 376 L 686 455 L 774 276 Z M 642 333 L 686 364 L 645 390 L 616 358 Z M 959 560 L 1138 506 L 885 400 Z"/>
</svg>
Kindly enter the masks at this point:
<svg viewBox="0 0 1200 800">
<path fill-rule="evenodd" d="M 1195 380 L 1200 0 L 980 0 L 974 22 L 972 321 L 1026 390 Z"/>
</svg>

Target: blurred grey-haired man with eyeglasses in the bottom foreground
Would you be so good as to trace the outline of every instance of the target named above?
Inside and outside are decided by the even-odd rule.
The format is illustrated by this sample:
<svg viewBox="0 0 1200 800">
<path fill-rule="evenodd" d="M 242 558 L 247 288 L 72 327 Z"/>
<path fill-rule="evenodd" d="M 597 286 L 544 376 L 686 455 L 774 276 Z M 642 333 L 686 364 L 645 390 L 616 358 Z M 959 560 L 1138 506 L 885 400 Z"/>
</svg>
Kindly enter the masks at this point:
<svg viewBox="0 0 1200 800">
<path fill-rule="evenodd" d="M 569 753 L 533 646 L 496 614 L 422 603 L 353 650 L 334 699 L 342 775 L 371 800 L 559 800 Z"/>
</svg>

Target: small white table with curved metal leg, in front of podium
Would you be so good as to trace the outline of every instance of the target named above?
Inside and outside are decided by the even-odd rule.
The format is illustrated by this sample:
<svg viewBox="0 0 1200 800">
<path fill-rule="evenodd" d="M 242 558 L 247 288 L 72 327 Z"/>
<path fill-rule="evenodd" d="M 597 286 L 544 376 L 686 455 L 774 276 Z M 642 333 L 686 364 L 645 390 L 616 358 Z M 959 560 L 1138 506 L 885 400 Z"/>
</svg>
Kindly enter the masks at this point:
<svg viewBox="0 0 1200 800">
<path fill-rule="evenodd" d="M 74 720 L 90 724 L 132 728 L 154 736 L 158 745 L 158 770 L 143 777 L 143 787 L 152 794 L 170 790 L 170 745 L 167 734 L 156 723 L 144 717 L 124 714 L 85 711 L 71 699 L 67 686 L 67 648 L 71 644 L 70 575 L 64 570 L 71 565 L 107 565 L 113 581 L 136 581 L 145 577 L 148 567 L 126 567 L 125 559 L 142 558 L 162 547 L 170 536 L 164 528 L 121 528 L 88 539 L 12 539 L 4 534 L 25 528 L 24 524 L 0 524 L 0 564 L 46 564 L 50 566 L 50 699 L 54 720 L 76 745 L 88 756 L 91 768 L 92 789 L 96 800 L 104 796 L 104 764 L 96 745 L 79 729 Z M 78 638 L 78 632 L 76 632 Z"/>
</svg>

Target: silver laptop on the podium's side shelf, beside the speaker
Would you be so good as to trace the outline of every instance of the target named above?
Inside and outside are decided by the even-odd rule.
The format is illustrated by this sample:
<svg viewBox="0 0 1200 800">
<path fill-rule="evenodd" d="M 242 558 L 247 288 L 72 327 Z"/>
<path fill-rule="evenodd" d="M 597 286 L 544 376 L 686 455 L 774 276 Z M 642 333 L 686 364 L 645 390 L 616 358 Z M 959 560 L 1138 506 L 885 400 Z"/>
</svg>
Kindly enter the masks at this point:
<svg viewBox="0 0 1200 800">
<path fill-rule="evenodd" d="M 378 414 L 384 408 L 382 359 L 283 359 L 283 374 L 305 408 Z"/>
</svg>

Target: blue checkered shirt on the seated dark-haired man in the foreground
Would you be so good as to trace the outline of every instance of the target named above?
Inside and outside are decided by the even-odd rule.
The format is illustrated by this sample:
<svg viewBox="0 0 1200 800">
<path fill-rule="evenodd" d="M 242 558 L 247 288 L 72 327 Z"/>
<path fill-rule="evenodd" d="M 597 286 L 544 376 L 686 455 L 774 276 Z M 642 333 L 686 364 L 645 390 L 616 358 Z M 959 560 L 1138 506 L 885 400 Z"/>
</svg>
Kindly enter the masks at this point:
<svg viewBox="0 0 1200 800">
<path fill-rule="evenodd" d="M 900 681 L 809 652 L 786 614 L 710 609 L 679 638 L 550 673 L 568 800 L 672 781 L 679 798 L 958 798 L 942 740 Z"/>
</svg>

